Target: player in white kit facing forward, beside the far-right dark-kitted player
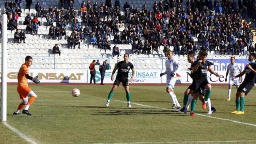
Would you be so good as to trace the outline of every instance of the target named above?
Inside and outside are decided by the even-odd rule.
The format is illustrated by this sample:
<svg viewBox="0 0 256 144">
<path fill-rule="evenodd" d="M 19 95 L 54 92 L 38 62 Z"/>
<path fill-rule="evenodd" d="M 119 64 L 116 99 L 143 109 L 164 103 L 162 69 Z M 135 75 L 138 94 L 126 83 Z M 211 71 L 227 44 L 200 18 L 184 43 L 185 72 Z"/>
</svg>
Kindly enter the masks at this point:
<svg viewBox="0 0 256 144">
<path fill-rule="evenodd" d="M 241 71 L 241 68 L 238 66 L 237 63 L 235 63 L 235 57 L 230 57 L 230 64 L 228 64 L 227 66 L 227 73 L 226 73 L 226 78 L 225 78 L 225 82 L 227 82 L 227 76 L 229 73 L 229 81 L 228 81 L 228 99 L 227 101 L 230 101 L 230 95 L 231 95 L 231 88 L 232 85 L 235 85 L 237 88 L 239 87 L 240 83 L 239 83 L 239 77 L 235 78 L 234 80 L 232 80 L 233 76 L 238 75 Z"/>
</svg>

